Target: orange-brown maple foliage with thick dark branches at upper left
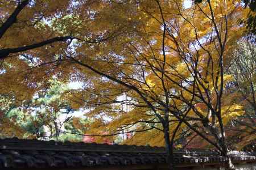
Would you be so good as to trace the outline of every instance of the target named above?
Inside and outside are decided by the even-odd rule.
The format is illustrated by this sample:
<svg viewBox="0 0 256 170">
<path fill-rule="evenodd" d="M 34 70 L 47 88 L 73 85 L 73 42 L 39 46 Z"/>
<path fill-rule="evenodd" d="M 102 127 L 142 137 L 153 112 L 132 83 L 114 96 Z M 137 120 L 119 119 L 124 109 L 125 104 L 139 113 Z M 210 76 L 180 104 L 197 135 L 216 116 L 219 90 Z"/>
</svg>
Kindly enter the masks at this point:
<svg viewBox="0 0 256 170">
<path fill-rule="evenodd" d="M 91 44 L 115 36 L 114 31 L 93 32 L 91 11 L 100 4 L 101 1 L 1 1 L 1 94 L 22 103 L 47 86 L 52 76 L 68 82 L 72 66 L 65 62 L 60 65 L 60 61 L 63 51 L 75 39 Z"/>
</svg>

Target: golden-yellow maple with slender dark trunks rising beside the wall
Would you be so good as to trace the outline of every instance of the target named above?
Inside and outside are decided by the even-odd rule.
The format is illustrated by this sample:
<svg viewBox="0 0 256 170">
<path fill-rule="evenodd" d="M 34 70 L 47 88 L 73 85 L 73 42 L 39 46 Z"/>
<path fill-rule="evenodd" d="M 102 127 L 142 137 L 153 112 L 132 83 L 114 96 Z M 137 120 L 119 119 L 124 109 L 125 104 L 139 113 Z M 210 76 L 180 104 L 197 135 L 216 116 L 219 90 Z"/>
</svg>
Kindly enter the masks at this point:
<svg viewBox="0 0 256 170">
<path fill-rule="evenodd" d="M 156 10 L 158 12 L 155 12 Z M 194 10 L 192 16 L 192 12 L 187 12 L 191 10 Z M 126 37 L 126 42 L 121 41 L 125 44 L 122 46 L 124 50 L 111 49 L 111 53 L 108 50 L 106 53 L 105 44 L 99 45 L 100 52 L 97 54 L 97 49 L 94 52 L 97 59 L 92 58 L 94 62 L 92 65 L 88 64 L 90 56 L 82 51 L 78 54 L 70 53 L 67 57 L 80 66 L 112 80 L 114 84 L 111 87 L 118 87 L 115 94 L 125 93 L 136 102 L 126 103 L 127 105 L 137 105 L 135 109 L 147 108 L 142 109 L 142 112 L 151 111 L 154 115 L 153 120 L 156 118 L 158 121 L 138 120 L 138 122 L 160 124 L 163 129 L 158 126 L 151 126 L 148 129 L 164 132 L 168 151 L 172 151 L 173 145 L 173 140 L 171 139 L 170 142 L 169 139 L 170 121 L 175 121 L 171 118 L 175 117 L 179 123 L 173 132 L 176 133 L 184 123 L 218 148 L 224 156 L 228 156 L 224 125 L 230 121 L 230 118 L 243 114 L 243 111 L 238 104 L 225 105 L 222 102 L 224 85 L 231 78 L 230 75 L 224 74 L 224 61 L 228 58 L 224 58 L 224 54 L 232 51 L 232 48 L 227 49 L 226 46 L 232 47 L 235 42 L 233 40 L 243 36 L 244 29 L 239 26 L 238 19 L 242 18 L 243 12 L 246 11 L 242 10 L 242 6 L 233 5 L 231 2 L 216 2 L 212 6 L 210 1 L 206 1 L 200 5 L 196 3 L 192 9 L 184 10 L 179 2 L 152 1 L 152 3 L 140 3 L 137 12 L 146 15 L 144 18 L 143 15 L 139 16 L 141 23 L 144 19 L 145 25 L 150 24 L 147 25 L 148 28 L 137 25 L 135 29 L 138 33 L 137 37 Z M 238 15 L 237 19 L 233 18 L 234 14 Z M 205 22 L 201 21 L 201 16 L 204 16 Z M 137 15 L 133 14 L 128 20 L 137 19 L 136 17 Z M 228 29 L 236 32 L 228 33 Z M 101 66 L 98 67 L 97 62 L 109 64 L 108 70 L 106 66 L 102 69 L 102 65 L 98 64 Z M 133 70 L 136 70 L 135 73 Z M 100 84 L 105 82 L 110 84 L 106 79 Z M 120 85 L 126 89 L 121 91 Z M 108 92 L 110 91 L 108 88 Z M 104 92 L 104 96 L 107 94 Z M 114 92 L 110 94 L 112 95 L 109 96 L 110 101 L 105 103 L 115 103 Z M 102 98 L 106 100 L 106 97 Z M 104 113 L 106 109 L 112 108 L 103 105 L 100 109 Z M 99 114 L 99 108 L 93 112 Z M 135 115 L 131 117 L 134 118 Z M 144 119 L 144 117 L 139 118 Z M 120 120 L 117 122 L 119 123 Z M 208 131 L 213 139 L 201 133 L 195 128 L 196 126 L 203 127 L 203 131 Z M 172 159 L 171 153 L 169 155 Z M 230 160 L 229 165 L 232 167 Z"/>
</svg>

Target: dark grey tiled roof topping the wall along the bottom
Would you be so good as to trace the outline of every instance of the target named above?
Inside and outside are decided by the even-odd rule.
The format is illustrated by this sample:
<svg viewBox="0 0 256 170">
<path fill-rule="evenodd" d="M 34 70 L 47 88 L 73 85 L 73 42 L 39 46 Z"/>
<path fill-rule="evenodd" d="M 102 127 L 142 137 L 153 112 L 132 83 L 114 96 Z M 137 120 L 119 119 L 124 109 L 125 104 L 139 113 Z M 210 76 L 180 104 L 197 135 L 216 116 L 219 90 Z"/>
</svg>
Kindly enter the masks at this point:
<svg viewBox="0 0 256 170">
<path fill-rule="evenodd" d="M 255 152 L 230 152 L 233 160 L 255 160 Z M 175 150 L 176 164 L 226 162 L 217 151 Z M 23 139 L 0 139 L 0 168 L 92 167 L 107 165 L 163 164 L 163 147 L 64 143 Z"/>
</svg>

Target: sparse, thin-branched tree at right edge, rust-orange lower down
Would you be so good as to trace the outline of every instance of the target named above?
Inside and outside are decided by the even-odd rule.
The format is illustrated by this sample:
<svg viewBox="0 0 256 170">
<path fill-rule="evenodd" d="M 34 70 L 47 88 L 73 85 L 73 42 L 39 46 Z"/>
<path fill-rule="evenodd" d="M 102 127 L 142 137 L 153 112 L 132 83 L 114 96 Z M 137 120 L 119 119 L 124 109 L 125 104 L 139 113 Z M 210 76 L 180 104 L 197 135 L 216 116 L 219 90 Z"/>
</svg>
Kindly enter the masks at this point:
<svg viewBox="0 0 256 170">
<path fill-rule="evenodd" d="M 256 100 L 255 100 L 255 52 L 256 46 L 247 37 L 243 37 L 237 42 L 237 48 L 233 50 L 231 61 L 227 72 L 233 75 L 233 81 L 228 84 L 230 99 L 240 103 L 245 114 L 242 117 L 233 119 L 232 128 L 238 140 L 238 149 L 243 148 L 255 141 L 255 121 L 256 121 Z M 235 135 L 234 134 L 234 135 Z"/>
</svg>

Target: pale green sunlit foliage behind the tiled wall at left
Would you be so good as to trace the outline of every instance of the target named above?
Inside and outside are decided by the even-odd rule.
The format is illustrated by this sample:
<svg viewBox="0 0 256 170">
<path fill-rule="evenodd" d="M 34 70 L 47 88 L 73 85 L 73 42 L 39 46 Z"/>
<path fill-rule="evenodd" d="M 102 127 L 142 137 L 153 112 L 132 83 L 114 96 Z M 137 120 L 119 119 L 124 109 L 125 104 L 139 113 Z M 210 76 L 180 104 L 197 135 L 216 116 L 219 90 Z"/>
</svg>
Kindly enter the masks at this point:
<svg viewBox="0 0 256 170">
<path fill-rule="evenodd" d="M 24 137 L 46 138 L 46 134 L 49 133 L 48 138 L 52 138 L 59 135 L 61 125 L 57 121 L 60 116 L 74 111 L 69 107 L 68 101 L 63 98 L 66 91 L 68 87 L 64 83 L 49 80 L 46 90 L 39 91 L 34 99 L 27 101 L 23 106 L 3 104 L 6 107 L 4 117 L 23 129 Z M 46 128 L 50 131 L 46 131 Z"/>
</svg>

